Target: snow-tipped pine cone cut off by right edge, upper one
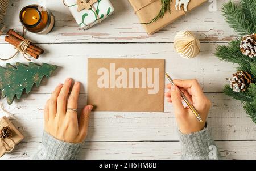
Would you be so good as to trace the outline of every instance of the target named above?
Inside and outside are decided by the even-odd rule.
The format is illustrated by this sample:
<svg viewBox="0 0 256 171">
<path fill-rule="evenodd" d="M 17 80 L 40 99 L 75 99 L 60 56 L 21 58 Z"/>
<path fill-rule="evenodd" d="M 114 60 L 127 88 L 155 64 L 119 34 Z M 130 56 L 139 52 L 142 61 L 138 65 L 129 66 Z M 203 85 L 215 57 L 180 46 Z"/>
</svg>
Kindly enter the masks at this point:
<svg viewBox="0 0 256 171">
<path fill-rule="evenodd" d="M 240 42 L 240 50 L 247 57 L 256 57 L 256 34 L 247 35 Z"/>
</svg>

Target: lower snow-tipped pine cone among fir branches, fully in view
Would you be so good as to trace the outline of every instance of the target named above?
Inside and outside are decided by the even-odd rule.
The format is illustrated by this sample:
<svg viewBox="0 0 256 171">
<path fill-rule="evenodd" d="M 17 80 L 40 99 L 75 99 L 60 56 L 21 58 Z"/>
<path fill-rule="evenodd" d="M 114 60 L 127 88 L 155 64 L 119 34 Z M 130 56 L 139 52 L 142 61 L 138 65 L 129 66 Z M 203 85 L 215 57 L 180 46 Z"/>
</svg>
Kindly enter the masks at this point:
<svg viewBox="0 0 256 171">
<path fill-rule="evenodd" d="M 238 71 L 233 74 L 233 78 L 229 81 L 230 88 L 232 88 L 234 92 L 241 92 L 246 90 L 246 86 L 253 83 L 253 78 L 251 78 L 251 75 L 245 71 Z"/>
</svg>

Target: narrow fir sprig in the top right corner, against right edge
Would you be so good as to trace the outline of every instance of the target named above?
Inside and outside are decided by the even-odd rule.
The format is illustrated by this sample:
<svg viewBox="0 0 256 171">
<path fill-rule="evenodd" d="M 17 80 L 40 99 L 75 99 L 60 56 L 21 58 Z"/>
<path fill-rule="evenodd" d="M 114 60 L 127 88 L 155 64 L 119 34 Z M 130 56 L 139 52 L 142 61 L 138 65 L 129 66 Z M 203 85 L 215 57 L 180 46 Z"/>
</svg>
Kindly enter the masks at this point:
<svg viewBox="0 0 256 171">
<path fill-rule="evenodd" d="M 243 0 L 241 6 L 246 20 L 253 25 L 252 33 L 256 32 L 256 0 Z"/>
</svg>

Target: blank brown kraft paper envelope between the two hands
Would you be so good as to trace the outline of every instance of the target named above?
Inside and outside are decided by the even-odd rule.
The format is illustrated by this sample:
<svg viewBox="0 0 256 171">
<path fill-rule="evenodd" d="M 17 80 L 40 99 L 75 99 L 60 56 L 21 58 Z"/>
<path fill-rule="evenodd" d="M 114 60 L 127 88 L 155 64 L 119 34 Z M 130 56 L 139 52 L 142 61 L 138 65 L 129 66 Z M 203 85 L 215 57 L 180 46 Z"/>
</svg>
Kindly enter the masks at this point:
<svg viewBox="0 0 256 171">
<path fill-rule="evenodd" d="M 96 111 L 163 112 L 164 59 L 88 59 L 88 104 Z"/>
</svg>

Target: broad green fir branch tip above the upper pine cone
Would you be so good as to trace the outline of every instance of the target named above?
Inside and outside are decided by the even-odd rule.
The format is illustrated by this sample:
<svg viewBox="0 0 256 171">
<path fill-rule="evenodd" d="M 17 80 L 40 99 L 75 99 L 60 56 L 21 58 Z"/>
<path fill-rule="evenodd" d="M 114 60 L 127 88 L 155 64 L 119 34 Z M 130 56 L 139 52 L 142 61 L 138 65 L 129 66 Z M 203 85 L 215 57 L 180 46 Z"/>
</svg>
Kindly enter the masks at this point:
<svg viewBox="0 0 256 171">
<path fill-rule="evenodd" d="M 244 0 L 243 0 L 244 1 Z M 240 6 L 237 6 L 234 2 L 229 1 L 224 3 L 222 7 L 223 16 L 226 18 L 226 22 L 234 31 L 241 35 L 247 35 L 253 33 L 254 25 L 246 20 L 245 13 Z"/>
</svg>

